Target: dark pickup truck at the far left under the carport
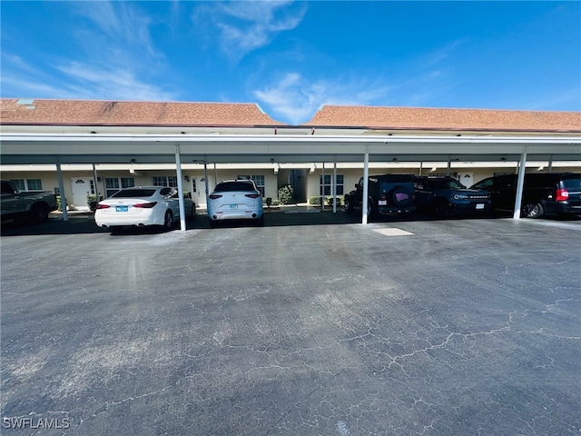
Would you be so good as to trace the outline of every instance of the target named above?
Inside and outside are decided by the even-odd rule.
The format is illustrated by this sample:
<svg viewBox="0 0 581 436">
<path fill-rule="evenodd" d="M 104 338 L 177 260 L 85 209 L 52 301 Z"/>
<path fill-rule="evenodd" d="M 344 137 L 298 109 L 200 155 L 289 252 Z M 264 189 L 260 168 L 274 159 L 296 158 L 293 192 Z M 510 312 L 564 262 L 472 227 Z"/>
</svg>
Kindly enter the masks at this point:
<svg viewBox="0 0 581 436">
<path fill-rule="evenodd" d="M 15 183 L 3 180 L 0 205 L 1 220 L 30 218 L 36 223 L 48 220 L 48 214 L 55 211 L 56 196 L 48 191 L 24 192 Z"/>
</svg>

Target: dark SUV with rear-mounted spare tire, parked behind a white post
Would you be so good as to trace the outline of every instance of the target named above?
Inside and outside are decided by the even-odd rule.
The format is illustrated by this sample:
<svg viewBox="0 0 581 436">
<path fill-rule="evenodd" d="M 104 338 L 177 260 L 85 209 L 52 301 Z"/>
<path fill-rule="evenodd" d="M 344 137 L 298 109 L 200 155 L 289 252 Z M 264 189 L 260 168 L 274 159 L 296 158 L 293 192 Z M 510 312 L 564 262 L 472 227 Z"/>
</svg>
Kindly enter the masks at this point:
<svg viewBox="0 0 581 436">
<path fill-rule="evenodd" d="M 381 174 L 369 177 L 368 216 L 393 215 L 416 210 L 413 174 Z M 355 190 L 345 194 L 343 210 L 347 213 L 363 207 L 363 177 Z"/>
</svg>

